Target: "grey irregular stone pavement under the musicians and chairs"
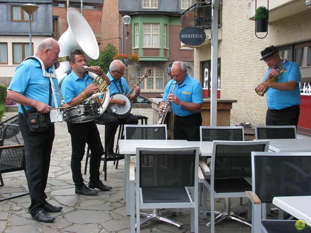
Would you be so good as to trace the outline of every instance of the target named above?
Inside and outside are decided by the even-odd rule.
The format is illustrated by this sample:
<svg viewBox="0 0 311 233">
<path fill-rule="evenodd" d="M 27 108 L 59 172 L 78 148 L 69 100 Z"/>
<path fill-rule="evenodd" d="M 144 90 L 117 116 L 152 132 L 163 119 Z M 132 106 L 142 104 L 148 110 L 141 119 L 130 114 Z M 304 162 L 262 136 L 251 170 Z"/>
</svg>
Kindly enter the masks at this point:
<svg viewBox="0 0 311 233">
<path fill-rule="evenodd" d="M 133 114 L 147 116 L 148 124 L 153 123 L 152 108 L 133 108 Z M 16 112 L 8 112 L 5 117 L 14 116 Z M 104 126 L 98 125 L 104 142 Z M 55 124 L 55 139 L 52 150 L 52 159 L 49 172 L 46 193 L 48 201 L 52 204 L 63 206 L 55 216 L 52 223 L 39 223 L 31 218 L 28 213 L 30 205 L 29 196 L 0 202 L 0 232 L 4 233 L 129 233 L 130 217 L 125 215 L 123 203 L 124 163 L 121 160 L 118 169 L 113 162 L 108 162 L 107 181 L 104 182 L 113 187 L 111 191 L 99 191 L 97 196 L 83 196 L 74 193 L 74 185 L 70 170 L 71 143 L 70 135 L 65 122 Z M 85 159 L 82 168 L 84 170 Z M 101 164 L 101 171 L 103 163 Z M 0 187 L 0 196 L 8 197 L 12 194 L 22 193 L 28 190 L 23 171 L 2 174 L 4 186 Z M 84 175 L 85 183 L 88 183 L 89 173 Z M 101 173 L 104 181 L 104 173 Z M 232 201 L 234 210 L 246 210 L 247 200 L 244 204 L 238 204 L 239 199 Z M 223 200 L 216 202 L 216 209 L 222 210 Z M 201 209 L 201 207 L 199 208 Z M 190 212 L 183 210 L 174 219 L 182 222 L 184 227 L 177 229 L 172 225 L 153 221 L 141 228 L 142 233 L 189 233 Z M 202 219 L 199 215 L 199 232 L 210 232 L 206 227 L 209 220 Z M 223 221 L 216 226 L 217 233 L 250 233 L 251 229 L 234 221 Z"/>
</svg>

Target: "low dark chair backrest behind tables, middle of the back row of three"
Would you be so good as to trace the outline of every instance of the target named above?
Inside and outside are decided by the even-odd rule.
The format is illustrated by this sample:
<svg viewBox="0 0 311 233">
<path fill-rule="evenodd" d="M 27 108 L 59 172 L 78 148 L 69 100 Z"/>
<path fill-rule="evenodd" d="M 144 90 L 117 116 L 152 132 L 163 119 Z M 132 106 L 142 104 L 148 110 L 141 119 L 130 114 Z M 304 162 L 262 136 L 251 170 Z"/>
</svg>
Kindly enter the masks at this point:
<svg viewBox="0 0 311 233">
<path fill-rule="evenodd" d="M 200 141 L 244 141 L 243 126 L 200 126 Z"/>
</svg>

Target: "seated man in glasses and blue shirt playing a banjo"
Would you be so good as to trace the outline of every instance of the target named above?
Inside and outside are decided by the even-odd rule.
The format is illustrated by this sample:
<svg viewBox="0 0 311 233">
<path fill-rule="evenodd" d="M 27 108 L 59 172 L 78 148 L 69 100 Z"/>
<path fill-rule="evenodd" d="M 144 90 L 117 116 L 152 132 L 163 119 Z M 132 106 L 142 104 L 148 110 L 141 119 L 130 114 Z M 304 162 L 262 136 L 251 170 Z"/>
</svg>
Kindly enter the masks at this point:
<svg viewBox="0 0 311 233">
<path fill-rule="evenodd" d="M 111 82 L 108 87 L 110 96 L 112 98 L 110 98 L 109 100 L 109 106 L 113 104 L 125 106 L 126 104 L 128 104 L 128 102 L 125 101 L 124 99 L 113 98 L 113 95 L 115 93 L 122 93 L 126 95 L 128 92 L 130 92 L 130 88 L 126 80 L 123 78 L 124 68 L 125 66 L 120 60 L 114 60 L 110 64 L 107 76 L 109 77 Z M 130 101 L 135 100 L 140 94 L 140 88 L 138 85 L 135 85 L 134 89 L 135 92 L 129 96 Z M 124 118 L 118 118 L 117 116 L 109 114 L 108 111 L 105 111 L 104 114 L 98 119 L 103 120 L 105 123 L 105 130 L 107 135 L 107 157 L 120 158 L 120 155 L 114 153 L 113 151 L 113 144 L 118 126 L 122 124 L 133 124 L 133 125 L 138 124 L 138 118 L 132 114 L 129 114 Z"/>
</svg>

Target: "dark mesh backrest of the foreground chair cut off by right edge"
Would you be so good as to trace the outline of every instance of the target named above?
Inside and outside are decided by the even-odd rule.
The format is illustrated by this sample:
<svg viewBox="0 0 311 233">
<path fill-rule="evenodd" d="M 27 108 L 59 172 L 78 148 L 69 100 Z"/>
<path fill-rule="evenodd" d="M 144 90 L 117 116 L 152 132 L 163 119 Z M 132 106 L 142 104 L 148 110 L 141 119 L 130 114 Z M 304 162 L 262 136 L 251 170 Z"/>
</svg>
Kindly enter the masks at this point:
<svg viewBox="0 0 311 233">
<path fill-rule="evenodd" d="M 311 196 L 311 152 L 252 152 L 252 188 L 262 203 Z"/>
</svg>

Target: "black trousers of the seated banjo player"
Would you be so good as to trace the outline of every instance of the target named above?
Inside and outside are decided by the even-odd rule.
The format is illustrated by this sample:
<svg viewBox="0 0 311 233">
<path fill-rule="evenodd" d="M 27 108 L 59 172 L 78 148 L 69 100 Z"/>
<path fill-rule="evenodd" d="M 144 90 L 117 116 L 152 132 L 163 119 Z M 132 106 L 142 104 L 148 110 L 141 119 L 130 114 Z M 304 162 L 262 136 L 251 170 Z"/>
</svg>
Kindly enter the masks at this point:
<svg viewBox="0 0 311 233">
<path fill-rule="evenodd" d="M 107 150 L 113 150 L 113 144 L 115 142 L 115 134 L 117 133 L 117 129 L 119 125 L 137 125 L 138 118 L 133 114 L 126 116 L 125 118 L 117 118 L 116 116 L 112 116 L 107 112 L 97 118 L 98 120 L 103 120 L 105 122 L 105 135 L 107 135 Z"/>
</svg>

